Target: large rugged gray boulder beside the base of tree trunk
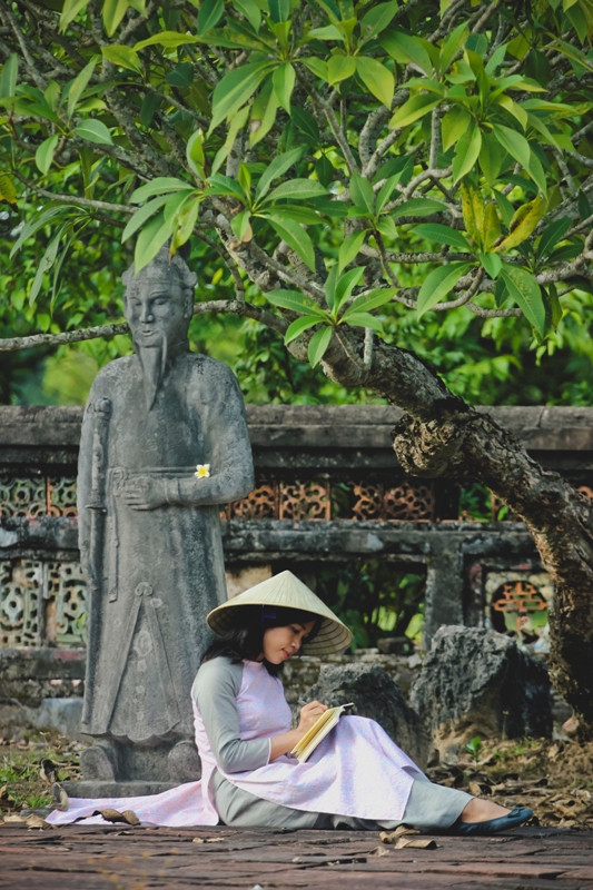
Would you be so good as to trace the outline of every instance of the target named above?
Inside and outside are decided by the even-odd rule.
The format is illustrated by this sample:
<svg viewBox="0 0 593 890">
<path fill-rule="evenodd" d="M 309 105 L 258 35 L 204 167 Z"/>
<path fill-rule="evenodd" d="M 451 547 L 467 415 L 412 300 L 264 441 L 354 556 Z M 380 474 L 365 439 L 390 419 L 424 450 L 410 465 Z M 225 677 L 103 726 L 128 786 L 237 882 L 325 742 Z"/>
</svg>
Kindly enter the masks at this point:
<svg viewBox="0 0 593 890">
<path fill-rule="evenodd" d="M 495 631 L 441 627 L 409 701 L 444 756 L 457 753 L 474 735 L 552 735 L 545 664 Z"/>
</svg>

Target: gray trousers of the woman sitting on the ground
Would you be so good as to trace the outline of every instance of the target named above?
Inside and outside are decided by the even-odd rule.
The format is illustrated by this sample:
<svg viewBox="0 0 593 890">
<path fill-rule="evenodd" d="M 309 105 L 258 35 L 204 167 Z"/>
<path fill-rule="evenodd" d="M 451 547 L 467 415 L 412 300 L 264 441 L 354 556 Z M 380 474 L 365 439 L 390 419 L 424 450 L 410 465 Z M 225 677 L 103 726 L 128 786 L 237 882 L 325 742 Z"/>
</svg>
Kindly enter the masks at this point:
<svg viewBox="0 0 593 890">
<path fill-rule="evenodd" d="M 471 794 L 454 788 L 444 788 L 414 772 L 414 783 L 409 792 L 404 815 L 399 820 L 376 821 L 358 819 L 353 815 L 308 812 L 294 810 L 279 803 L 256 798 L 255 794 L 237 788 L 228 779 L 215 771 L 211 788 L 216 809 L 225 825 L 237 828 L 346 828 L 358 831 L 393 830 L 405 823 L 424 831 L 449 828 L 457 821 L 471 800 Z"/>
</svg>

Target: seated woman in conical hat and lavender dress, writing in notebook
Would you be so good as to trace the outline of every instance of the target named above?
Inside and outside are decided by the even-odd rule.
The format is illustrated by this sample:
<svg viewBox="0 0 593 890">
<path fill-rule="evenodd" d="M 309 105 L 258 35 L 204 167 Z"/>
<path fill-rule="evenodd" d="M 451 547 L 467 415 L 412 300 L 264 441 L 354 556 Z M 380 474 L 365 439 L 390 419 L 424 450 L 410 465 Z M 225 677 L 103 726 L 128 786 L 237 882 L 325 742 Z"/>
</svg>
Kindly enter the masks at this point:
<svg viewBox="0 0 593 890">
<path fill-rule="evenodd" d="M 200 782 L 148 798 L 72 800 L 53 823 L 103 807 L 131 809 L 144 823 L 289 829 L 395 829 L 486 834 L 531 818 L 428 781 L 373 720 L 343 716 L 308 760 L 290 751 L 326 705 L 309 702 L 296 729 L 280 680 L 293 655 L 328 655 L 350 631 L 290 572 L 283 572 L 208 615 L 219 634 L 206 651 L 192 698 Z M 95 820 L 100 821 L 100 817 Z"/>
</svg>

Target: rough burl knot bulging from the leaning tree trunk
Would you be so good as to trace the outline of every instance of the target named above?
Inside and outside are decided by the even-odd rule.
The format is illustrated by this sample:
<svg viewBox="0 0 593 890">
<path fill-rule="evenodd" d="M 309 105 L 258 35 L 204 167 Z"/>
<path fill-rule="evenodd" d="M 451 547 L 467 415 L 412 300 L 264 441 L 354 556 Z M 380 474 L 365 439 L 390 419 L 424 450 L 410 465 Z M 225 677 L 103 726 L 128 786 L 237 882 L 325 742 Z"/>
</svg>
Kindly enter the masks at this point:
<svg viewBox="0 0 593 890">
<path fill-rule="evenodd" d="M 438 419 L 418 421 L 405 414 L 392 431 L 397 459 L 405 473 L 433 478 L 445 473 L 463 476 L 463 455 L 472 412 L 452 412 Z"/>
</svg>

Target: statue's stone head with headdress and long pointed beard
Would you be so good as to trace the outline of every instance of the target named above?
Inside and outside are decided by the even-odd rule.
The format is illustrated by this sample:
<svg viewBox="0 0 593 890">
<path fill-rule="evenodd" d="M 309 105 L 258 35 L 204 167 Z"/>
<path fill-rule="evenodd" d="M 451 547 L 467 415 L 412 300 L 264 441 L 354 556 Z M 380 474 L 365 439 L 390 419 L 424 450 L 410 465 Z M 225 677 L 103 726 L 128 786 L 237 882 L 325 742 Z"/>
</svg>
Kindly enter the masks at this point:
<svg viewBox="0 0 593 890">
<path fill-rule="evenodd" d="M 179 254 L 169 259 L 168 245 L 138 275 L 134 273 L 131 266 L 121 276 L 126 285 L 123 307 L 150 411 L 165 377 L 167 359 L 188 348 L 197 275 Z"/>
</svg>

